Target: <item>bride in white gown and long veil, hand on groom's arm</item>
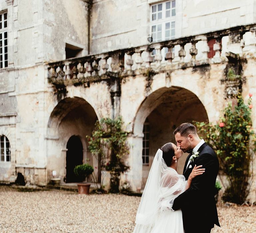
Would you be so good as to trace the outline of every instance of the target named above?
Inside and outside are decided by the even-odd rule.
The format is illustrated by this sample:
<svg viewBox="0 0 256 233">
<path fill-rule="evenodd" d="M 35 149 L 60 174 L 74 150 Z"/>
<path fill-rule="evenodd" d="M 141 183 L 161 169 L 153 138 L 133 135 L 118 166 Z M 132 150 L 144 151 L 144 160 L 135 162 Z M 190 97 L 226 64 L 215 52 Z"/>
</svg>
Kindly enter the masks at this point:
<svg viewBox="0 0 256 233">
<path fill-rule="evenodd" d="M 173 211 L 173 201 L 205 169 L 195 165 L 186 181 L 183 175 L 177 173 L 181 156 L 182 150 L 171 142 L 156 152 L 137 210 L 133 233 L 184 233 L 182 212 Z"/>
</svg>

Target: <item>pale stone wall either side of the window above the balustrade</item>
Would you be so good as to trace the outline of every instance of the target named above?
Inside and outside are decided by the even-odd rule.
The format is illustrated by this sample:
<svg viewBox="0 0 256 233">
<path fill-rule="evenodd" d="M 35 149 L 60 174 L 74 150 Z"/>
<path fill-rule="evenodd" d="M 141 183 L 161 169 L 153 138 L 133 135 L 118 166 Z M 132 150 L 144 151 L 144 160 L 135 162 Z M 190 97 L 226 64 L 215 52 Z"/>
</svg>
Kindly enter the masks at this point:
<svg viewBox="0 0 256 233">
<path fill-rule="evenodd" d="M 91 13 L 91 52 L 147 44 L 150 5 L 155 0 L 95 0 Z M 175 37 L 185 37 L 255 22 L 250 0 L 176 1 Z M 234 17 L 235 16 L 235 17 Z"/>
</svg>

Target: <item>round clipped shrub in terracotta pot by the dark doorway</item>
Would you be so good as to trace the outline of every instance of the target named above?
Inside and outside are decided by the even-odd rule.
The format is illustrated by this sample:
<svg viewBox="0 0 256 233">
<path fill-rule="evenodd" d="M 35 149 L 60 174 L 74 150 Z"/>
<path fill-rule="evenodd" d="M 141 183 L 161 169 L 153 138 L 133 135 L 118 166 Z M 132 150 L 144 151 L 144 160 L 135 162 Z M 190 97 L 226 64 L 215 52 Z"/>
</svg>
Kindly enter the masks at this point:
<svg viewBox="0 0 256 233">
<path fill-rule="evenodd" d="M 86 178 L 88 178 L 89 175 L 93 173 L 93 167 L 88 163 L 80 164 L 75 166 L 74 173 L 77 177 L 79 177 L 83 181 L 83 183 L 77 184 L 78 193 L 89 194 L 91 184 L 86 183 L 85 180 Z"/>
</svg>

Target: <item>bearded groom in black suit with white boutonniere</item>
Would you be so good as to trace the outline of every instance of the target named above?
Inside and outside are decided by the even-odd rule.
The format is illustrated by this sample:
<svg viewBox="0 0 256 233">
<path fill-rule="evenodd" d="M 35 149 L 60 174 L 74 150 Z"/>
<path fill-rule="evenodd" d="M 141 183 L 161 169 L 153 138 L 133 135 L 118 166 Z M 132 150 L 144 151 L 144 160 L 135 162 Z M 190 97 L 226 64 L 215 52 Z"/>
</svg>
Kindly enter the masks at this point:
<svg viewBox="0 0 256 233">
<path fill-rule="evenodd" d="M 213 149 L 200 139 L 196 127 L 183 123 L 173 132 L 177 146 L 190 153 L 186 159 L 183 175 L 186 180 L 195 164 L 203 165 L 205 173 L 196 176 L 190 188 L 180 194 L 173 203 L 173 210 L 182 210 L 185 233 L 209 233 L 214 224 L 220 226 L 214 200 L 215 182 L 219 161 Z"/>
</svg>

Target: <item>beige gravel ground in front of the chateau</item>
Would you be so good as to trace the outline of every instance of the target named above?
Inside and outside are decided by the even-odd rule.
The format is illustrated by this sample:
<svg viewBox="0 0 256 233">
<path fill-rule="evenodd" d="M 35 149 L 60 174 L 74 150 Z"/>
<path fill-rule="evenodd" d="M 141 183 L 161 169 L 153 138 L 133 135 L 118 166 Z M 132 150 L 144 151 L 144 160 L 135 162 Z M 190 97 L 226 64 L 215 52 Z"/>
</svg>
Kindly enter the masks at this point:
<svg viewBox="0 0 256 233">
<path fill-rule="evenodd" d="M 69 191 L 20 192 L 0 186 L 0 232 L 130 233 L 140 197 L 78 195 Z M 212 232 L 256 232 L 256 206 L 218 206 Z"/>
</svg>

